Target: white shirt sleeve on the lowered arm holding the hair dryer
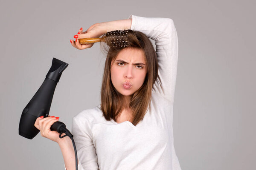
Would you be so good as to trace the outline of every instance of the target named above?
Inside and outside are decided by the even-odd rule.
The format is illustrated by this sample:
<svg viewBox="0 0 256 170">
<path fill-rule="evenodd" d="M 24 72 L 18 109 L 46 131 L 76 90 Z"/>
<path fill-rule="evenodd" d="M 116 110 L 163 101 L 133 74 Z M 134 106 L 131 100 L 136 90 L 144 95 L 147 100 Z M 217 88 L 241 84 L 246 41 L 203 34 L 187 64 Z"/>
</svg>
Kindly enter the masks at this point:
<svg viewBox="0 0 256 170">
<path fill-rule="evenodd" d="M 79 170 L 98 170 L 98 157 L 93 145 L 93 135 L 87 119 L 73 117 L 72 134 L 76 144 Z M 65 167 L 66 169 L 66 167 Z"/>
</svg>

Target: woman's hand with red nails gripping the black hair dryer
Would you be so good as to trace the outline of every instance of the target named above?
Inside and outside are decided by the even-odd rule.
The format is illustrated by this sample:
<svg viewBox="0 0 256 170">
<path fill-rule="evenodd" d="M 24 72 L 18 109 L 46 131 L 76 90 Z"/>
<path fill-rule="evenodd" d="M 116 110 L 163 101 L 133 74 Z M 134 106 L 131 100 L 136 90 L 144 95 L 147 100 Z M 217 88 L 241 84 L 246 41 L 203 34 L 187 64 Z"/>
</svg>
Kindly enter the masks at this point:
<svg viewBox="0 0 256 170">
<path fill-rule="evenodd" d="M 50 127 L 52 126 L 52 124 L 54 122 L 57 122 L 59 119 L 59 117 L 54 117 L 54 116 L 48 116 L 46 118 L 44 117 L 38 117 L 35 121 L 35 127 L 40 130 L 41 132 L 41 136 L 51 139 L 54 142 L 59 141 L 59 135 L 60 133 L 58 133 L 57 131 L 52 131 L 50 130 Z"/>
</svg>

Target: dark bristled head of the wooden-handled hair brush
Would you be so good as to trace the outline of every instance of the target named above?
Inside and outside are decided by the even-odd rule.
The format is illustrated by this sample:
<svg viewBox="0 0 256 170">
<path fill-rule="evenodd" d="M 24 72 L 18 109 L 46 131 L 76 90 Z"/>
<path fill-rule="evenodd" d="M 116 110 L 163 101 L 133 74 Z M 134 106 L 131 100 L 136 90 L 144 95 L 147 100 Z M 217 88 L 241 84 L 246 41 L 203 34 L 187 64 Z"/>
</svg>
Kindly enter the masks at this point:
<svg viewBox="0 0 256 170">
<path fill-rule="evenodd" d="M 128 32 L 131 31 L 130 29 L 128 30 L 115 30 L 115 31 L 109 31 L 106 32 L 103 37 L 104 41 L 108 44 L 110 47 L 117 47 L 117 48 L 122 48 L 122 47 L 128 47 Z"/>
</svg>

